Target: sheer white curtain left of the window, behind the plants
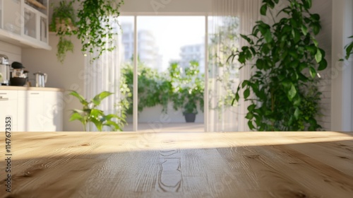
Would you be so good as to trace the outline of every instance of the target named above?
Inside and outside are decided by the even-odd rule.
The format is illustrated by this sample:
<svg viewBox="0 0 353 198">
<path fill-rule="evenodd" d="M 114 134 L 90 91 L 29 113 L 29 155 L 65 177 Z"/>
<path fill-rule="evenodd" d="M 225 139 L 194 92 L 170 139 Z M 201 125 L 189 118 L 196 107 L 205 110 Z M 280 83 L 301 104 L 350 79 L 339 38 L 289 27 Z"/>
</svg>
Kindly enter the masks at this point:
<svg viewBox="0 0 353 198">
<path fill-rule="evenodd" d="M 116 46 L 115 50 L 112 52 L 105 51 L 94 62 L 90 62 L 90 55 L 85 59 L 85 98 L 90 100 L 102 91 L 114 93 L 114 95 L 105 98 L 98 107 L 106 114 L 119 113 L 121 64 L 124 54 L 121 34 L 116 35 L 112 45 Z M 106 48 L 108 47 L 107 45 Z M 94 124 L 90 124 L 89 127 L 90 131 L 97 131 Z M 103 130 L 109 131 L 109 128 Z"/>
</svg>

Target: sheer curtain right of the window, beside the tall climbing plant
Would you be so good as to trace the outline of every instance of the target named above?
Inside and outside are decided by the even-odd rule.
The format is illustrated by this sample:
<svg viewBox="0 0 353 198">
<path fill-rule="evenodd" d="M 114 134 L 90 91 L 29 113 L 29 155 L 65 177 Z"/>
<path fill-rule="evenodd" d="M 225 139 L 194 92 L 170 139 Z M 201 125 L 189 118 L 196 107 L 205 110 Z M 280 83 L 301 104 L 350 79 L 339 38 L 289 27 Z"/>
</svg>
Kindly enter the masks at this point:
<svg viewBox="0 0 353 198">
<path fill-rule="evenodd" d="M 246 119 L 248 104 L 241 98 L 232 106 L 239 81 L 251 71 L 234 60 L 227 63 L 232 50 L 246 45 L 240 34 L 248 35 L 260 19 L 261 0 L 213 0 L 208 18 L 208 130 L 210 132 L 249 131 Z M 241 94 L 242 96 L 242 94 Z"/>
</svg>

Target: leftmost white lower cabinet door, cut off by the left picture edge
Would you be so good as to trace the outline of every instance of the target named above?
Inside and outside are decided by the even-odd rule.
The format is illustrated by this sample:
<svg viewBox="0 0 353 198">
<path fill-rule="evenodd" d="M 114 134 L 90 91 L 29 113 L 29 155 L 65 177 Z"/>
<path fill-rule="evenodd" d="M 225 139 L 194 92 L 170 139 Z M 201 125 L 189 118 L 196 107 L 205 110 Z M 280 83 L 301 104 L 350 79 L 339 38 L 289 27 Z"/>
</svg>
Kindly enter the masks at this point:
<svg viewBox="0 0 353 198">
<path fill-rule="evenodd" d="M 11 130 L 18 130 L 17 96 L 17 91 L 0 90 L 0 132 L 5 132 L 5 118 L 8 116 L 11 117 Z"/>
</svg>

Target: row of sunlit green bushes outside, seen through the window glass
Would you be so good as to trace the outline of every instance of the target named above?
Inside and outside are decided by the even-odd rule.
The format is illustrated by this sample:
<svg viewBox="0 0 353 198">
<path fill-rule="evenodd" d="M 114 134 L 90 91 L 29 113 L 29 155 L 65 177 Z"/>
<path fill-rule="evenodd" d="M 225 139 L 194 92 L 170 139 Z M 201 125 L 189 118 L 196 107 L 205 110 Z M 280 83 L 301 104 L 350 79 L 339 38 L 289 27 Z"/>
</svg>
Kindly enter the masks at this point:
<svg viewBox="0 0 353 198">
<path fill-rule="evenodd" d="M 124 84 L 121 86 L 133 90 L 133 65 L 126 64 L 123 71 Z M 144 107 L 162 105 L 162 112 L 167 113 L 168 103 L 172 102 L 174 110 L 184 113 L 197 113 L 197 105 L 203 110 L 203 75 L 199 74 L 197 62 L 191 62 L 184 70 L 177 63 L 170 64 L 168 70 L 159 73 L 142 62 L 138 62 L 138 111 Z M 129 115 L 133 113 L 133 94 L 126 95 Z"/>
</svg>

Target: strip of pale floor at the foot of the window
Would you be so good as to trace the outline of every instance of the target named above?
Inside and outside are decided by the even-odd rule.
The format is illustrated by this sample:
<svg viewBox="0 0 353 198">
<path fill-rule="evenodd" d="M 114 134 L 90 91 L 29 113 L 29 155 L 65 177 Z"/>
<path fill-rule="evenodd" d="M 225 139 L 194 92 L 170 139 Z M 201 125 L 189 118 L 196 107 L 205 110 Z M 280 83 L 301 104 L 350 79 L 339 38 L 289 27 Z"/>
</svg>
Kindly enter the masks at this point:
<svg viewBox="0 0 353 198">
<path fill-rule="evenodd" d="M 203 132 L 203 123 L 138 123 L 138 132 Z M 133 124 L 128 123 L 124 132 L 132 132 Z"/>
</svg>

